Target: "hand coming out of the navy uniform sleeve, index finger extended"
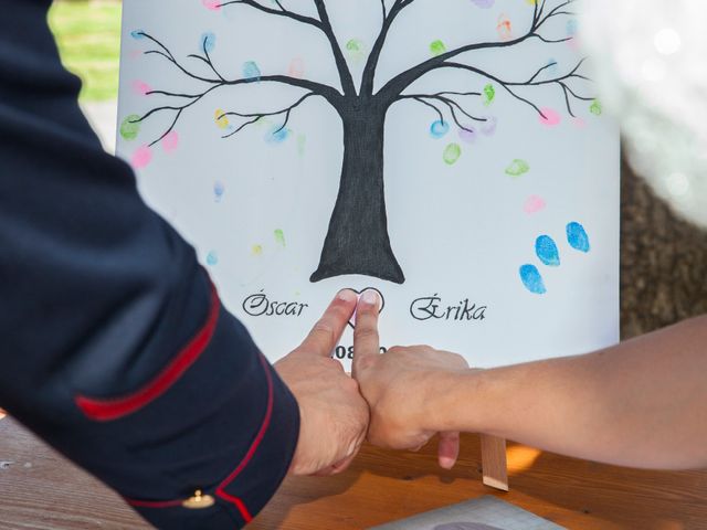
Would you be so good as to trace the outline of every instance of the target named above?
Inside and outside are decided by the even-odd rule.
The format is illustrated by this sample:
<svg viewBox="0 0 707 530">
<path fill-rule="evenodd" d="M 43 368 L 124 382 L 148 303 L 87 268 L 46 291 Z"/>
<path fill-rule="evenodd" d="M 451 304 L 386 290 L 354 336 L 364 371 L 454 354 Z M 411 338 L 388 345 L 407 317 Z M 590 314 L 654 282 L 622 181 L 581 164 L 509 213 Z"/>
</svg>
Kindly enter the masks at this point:
<svg viewBox="0 0 707 530">
<path fill-rule="evenodd" d="M 334 475 L 348 467 L 368 427 L 368 405 L 358 383 L 331 359 L 357 295 L 340 292 L 305 341 L 275 370 L 299 404 L 300 427 L 292 463 L 294 475 Z"/>
</svg>

